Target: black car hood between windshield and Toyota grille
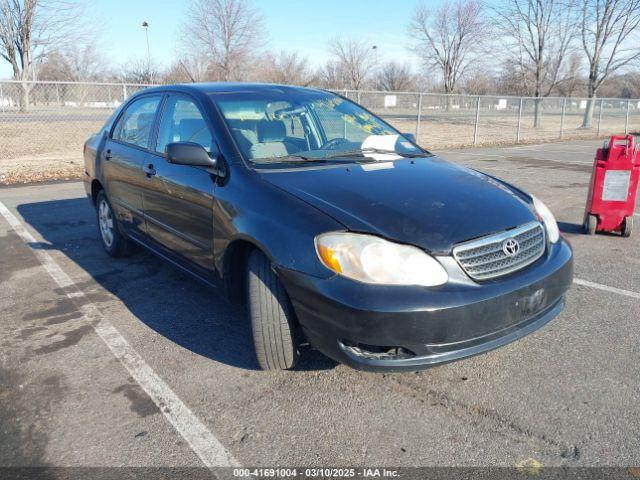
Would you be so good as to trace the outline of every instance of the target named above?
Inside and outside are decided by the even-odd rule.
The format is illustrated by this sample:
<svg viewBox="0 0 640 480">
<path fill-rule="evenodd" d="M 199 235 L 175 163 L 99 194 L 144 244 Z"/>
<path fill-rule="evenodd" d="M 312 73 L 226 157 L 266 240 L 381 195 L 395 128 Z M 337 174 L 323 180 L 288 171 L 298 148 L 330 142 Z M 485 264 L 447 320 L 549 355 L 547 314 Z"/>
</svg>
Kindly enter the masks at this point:
<svg viewBox="0 0 640 480">
<path fill-rule="evenodd" d="M 521 193 L 438 157 L 263 170 L 261 175 L 348 230 L 434 254 L 447 254 L 456 243 L 535 220 Z"/>
</svg>

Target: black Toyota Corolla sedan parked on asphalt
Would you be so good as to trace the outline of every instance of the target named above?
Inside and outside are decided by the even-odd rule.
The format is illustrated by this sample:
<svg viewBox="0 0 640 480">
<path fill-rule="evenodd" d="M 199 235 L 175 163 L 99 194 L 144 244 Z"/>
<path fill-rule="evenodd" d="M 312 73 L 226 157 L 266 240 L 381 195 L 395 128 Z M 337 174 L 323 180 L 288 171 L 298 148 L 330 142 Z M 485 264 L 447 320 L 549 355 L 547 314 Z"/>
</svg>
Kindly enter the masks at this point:
<svg viewBox="0 0 640 480">
<path fill-rule="evenodd" d="M 246 303 L 264 369 L 307 344 L 365 370 L 458 360 L 549 322 L 572 282 L 542 202 L 326 91 L 151 88 L 84 156 L 107 253 L 142 245 Z"/>
</svg>

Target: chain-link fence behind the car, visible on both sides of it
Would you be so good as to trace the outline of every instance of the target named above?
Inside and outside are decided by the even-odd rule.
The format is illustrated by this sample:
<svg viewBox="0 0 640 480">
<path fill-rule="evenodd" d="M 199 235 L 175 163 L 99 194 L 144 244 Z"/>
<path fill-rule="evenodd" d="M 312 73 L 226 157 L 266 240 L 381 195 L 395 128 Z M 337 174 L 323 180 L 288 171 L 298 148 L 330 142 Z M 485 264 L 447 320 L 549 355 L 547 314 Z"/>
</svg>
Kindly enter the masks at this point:
<svg viewBox="0 0 640 480">
<path fill-rule="evenodd" d="M 82 145 L 149 85 L 0 82 L 0 183 L 77 176 Z M 597 138 L 640 131 L 640 99 L 527 98 L 341 90 L 426 148 Z"/>
</svg>

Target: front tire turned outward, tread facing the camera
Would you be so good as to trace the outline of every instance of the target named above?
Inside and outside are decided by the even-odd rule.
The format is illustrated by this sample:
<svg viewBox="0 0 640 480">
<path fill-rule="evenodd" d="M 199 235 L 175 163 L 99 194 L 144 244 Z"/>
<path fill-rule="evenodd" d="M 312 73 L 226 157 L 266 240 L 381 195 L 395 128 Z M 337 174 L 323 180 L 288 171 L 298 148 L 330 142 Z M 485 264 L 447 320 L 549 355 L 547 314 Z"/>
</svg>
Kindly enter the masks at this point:
<svg viewBox="0 0 640 480">
<path fill-rule="evenodd" d="M 258 250 L 247 262 L 247 312 L 260 368 L 293 369 L 299 357 L 293 309 L 271 262 Z"/>
</svg>

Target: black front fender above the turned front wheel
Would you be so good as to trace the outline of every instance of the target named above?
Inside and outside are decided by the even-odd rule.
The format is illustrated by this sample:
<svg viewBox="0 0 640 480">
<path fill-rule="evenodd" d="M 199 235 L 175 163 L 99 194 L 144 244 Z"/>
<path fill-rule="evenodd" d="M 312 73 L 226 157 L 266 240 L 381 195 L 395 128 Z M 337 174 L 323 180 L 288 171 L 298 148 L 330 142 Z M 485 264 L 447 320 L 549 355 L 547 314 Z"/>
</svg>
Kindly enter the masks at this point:
<svg viewBox="0 0 640 480">
<path fill-rule="evenodd" d="M 234 165 L 228 181 L 216 187 L 214 255 L 223 272 L 225 254 L 236 241 L 260 248 L 276 267 L 320 278 L 333 273 L 315 252 L 316 235 L 344 226 L 320 210 L 262 180 L 244 166 Z"/>
</svg>

